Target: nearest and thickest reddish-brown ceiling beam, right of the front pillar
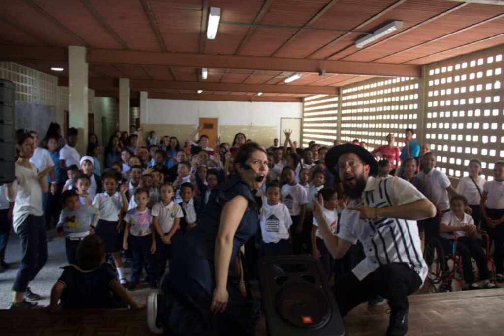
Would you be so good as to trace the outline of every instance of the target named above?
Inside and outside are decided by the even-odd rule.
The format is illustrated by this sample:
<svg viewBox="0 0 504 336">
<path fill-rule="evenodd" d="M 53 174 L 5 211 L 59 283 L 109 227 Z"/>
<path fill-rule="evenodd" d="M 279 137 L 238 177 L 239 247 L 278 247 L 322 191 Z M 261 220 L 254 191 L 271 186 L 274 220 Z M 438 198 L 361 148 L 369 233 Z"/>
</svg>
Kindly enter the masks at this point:
<svg viewBox="0 0 504 336">
<path fill-rule="evenodd" d="M 89 63 L 319 73 L 322 60 L 88 49 Z M 386 63 L 325 61 L 328 74 L 420 77 L 420 67 Z"/>
</svg>

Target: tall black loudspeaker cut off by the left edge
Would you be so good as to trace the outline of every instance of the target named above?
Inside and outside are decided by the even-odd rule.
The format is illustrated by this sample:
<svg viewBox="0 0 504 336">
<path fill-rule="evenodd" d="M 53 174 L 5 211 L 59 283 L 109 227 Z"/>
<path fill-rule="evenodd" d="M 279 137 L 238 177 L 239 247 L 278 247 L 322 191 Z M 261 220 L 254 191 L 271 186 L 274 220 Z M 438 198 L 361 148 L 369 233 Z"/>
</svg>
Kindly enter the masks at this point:
<svg viewBox="0 0 504 336">
<path fill-rule="evenodd" d="M 16 163 L 14 100 L 16 86 L 0 79 L 0 184 L 13 182 Z"/>
</svg>

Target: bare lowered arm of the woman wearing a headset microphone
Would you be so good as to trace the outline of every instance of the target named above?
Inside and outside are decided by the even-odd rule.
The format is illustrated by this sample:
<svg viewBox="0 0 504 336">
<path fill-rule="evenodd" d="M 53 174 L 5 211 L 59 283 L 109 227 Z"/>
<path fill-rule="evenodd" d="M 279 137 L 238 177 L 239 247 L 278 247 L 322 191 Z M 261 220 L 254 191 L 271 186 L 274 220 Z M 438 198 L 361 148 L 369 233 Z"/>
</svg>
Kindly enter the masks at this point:
<svg viewBox="0 0 504 336">
<path fill-rule="evenodd" d="M 226 285 L 233 251 L 233 239 L 247 204 L 246 198 L 239 195 L 229 200 L 222 209 L 219 231 L 215 239 L 215 289 L 210 305 L 212 313 L 223 313 L 227 307 L 229 294 Z"/>
</svg>

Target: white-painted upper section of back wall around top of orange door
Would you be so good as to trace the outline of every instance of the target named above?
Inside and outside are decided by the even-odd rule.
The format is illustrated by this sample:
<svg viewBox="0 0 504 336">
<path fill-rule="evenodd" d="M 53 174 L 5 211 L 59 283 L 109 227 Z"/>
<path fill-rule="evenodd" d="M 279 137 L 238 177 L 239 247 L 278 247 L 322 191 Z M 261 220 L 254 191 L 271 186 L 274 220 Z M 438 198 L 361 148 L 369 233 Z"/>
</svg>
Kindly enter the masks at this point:
<svg viewBox="0 0 504 336">
<path fill-rule="evenodd" d="M 280 118 L 301 118 L 302 103 L 148 99 L 146 124 L 197 125 L 199 118 L 217 118 L 219 125 L 276 126 Z"/>
</svg>

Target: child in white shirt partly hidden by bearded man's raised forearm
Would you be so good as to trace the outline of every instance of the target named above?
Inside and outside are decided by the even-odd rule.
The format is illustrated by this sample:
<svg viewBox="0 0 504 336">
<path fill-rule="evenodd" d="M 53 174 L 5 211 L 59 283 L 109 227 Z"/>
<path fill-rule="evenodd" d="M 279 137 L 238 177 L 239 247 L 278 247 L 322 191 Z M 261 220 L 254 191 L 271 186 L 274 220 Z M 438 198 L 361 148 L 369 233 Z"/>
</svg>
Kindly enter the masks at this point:
<svg viewBox="0 0 504 336">
<path fill-rule="evenodd" d="M 329 230 L 336 236 L 338 228 L 338 193 L 333 188 L 323 188 L 319 191 L 324 199 L 324 218 L 329 225 Z M 311 228 L 311 255 L 319 258 L 327 277 L 333 273 L 333 257 L 326 247 L 319 230 L 317 219 L 313 217 L 313 227 Z"/>
</svg>

